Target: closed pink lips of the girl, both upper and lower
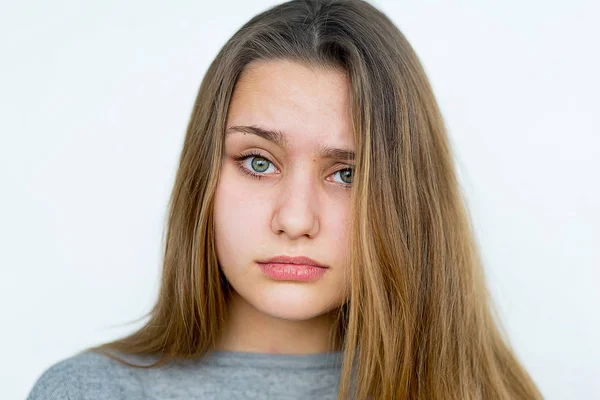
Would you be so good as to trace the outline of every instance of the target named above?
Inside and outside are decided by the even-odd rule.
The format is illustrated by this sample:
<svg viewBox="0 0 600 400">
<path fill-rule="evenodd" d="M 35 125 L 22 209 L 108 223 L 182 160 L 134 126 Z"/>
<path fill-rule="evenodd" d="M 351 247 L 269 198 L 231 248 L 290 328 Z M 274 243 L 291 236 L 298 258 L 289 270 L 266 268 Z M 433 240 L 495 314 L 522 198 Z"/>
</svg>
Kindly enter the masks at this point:
<svg viewBox="0 0 600 400">
<path fill-rule="evenodd" d="M 277 281 L 314 281 L 328 268 L 308 257 L 287 256 L 259 261 L 258 265 L 265 275 Z"/>
</svg>

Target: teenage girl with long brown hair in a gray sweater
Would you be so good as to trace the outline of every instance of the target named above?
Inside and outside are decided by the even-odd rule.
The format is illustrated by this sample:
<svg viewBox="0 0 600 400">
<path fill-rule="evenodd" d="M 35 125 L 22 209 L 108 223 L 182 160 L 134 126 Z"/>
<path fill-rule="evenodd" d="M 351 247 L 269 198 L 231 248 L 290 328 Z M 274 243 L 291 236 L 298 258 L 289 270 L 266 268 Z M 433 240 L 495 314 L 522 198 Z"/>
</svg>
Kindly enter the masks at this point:
<svg viewBox="0 0 600 400">
<path fill-rule="evenodd" d="M 275 6 L 201 83 L 148 322 L 51 366 L 29 399 L 540 399 L 466 210 L 390 19 Z"/>
</svg>

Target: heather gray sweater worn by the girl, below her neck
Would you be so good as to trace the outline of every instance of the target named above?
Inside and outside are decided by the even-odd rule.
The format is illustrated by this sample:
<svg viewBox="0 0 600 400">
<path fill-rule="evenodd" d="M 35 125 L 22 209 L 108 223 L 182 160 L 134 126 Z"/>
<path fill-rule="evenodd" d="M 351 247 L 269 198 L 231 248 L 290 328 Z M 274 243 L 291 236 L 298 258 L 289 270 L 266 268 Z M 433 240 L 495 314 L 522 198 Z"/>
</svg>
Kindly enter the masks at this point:
<svg viewBox="0 0 600 400">
<path fill-rule="evenodd" d="M 201 360 L 133 368 L 92 352 L 49 367 L 27 400 L 337 399 L 342 352 L 213 352 Z M 147 365 L 148 357 L 124 357 Z"/>
</svg>

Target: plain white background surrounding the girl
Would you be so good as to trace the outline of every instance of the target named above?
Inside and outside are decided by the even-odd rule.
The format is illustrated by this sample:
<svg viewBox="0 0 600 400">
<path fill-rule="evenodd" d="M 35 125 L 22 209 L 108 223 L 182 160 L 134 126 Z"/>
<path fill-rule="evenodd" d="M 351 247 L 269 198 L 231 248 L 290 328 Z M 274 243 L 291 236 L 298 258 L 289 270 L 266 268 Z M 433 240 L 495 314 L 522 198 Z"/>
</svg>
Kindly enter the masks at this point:
<svg viewBox="0 0 600 400">
<path fill-rule="evenodd" d="M 2 2 L 2 399 L 142 324 L 200 81 L 276 3 Z M 546 398 L 600 398 L 598 3 L 373 4 L 432 82 L 518 357 Z"/>
</svg>

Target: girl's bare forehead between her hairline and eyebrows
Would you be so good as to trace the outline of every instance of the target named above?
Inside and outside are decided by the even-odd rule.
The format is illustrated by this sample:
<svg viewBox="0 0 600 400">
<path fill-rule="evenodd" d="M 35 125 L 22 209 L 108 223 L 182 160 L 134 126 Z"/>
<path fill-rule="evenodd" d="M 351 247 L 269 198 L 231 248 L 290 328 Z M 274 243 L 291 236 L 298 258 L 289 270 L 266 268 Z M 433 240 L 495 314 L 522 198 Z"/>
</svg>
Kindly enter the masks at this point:
<svg viewBox="0 0 600 400">
<path fill-rule="evenodd" d="M 352 146 L 349 82 L 338 70 L 287 60 L 246 66 L 234 88 L 227 127 L 255 125 L 286 132 L 296 146 Z"/>
</svg>

